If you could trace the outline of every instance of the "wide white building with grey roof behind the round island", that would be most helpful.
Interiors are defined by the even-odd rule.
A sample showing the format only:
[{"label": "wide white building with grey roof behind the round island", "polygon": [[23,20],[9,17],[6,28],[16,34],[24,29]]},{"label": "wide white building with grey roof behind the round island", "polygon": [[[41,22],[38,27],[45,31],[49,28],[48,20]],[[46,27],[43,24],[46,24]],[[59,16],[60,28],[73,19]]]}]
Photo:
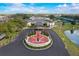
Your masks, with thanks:
[{"label": "wide white building with grey roof behind the round island", "polygon": [[36,26],[44,26],[45,23],[47,23],[47,26],[52,28],[54,27],[55,23],[47,17],[38,17],[38,16],[32,16],[30,19],[27,21],[27,25],[31,26],[31,24],[35,24]]}]

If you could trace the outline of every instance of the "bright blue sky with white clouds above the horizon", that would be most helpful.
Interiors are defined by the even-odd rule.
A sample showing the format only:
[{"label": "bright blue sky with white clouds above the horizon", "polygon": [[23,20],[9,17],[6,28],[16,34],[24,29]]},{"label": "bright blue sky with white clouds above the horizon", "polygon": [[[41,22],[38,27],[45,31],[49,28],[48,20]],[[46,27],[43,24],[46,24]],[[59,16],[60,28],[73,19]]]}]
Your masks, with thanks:
[{"label": "bright blue sky with white clouds above the horizon", "polygon": [[79,14],[78,3],[0,3],[0,14]]}]

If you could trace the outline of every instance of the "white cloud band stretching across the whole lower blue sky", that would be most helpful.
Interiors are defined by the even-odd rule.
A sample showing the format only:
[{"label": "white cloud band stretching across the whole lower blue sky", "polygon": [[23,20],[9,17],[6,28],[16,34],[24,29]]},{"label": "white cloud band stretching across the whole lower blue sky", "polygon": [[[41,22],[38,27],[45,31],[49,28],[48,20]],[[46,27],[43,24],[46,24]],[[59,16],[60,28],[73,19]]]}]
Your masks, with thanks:
[{"label": "white cloud band stretching across the whole lower blue sky", "polygon": [[6,6],[4,10],[0,10],[0,13],[79,13],[79,4],[59,4],[57,6],[51,6],[51,8],[44,5],[35,6],[34,3],[22,4],[14,3],[10,6]]}]

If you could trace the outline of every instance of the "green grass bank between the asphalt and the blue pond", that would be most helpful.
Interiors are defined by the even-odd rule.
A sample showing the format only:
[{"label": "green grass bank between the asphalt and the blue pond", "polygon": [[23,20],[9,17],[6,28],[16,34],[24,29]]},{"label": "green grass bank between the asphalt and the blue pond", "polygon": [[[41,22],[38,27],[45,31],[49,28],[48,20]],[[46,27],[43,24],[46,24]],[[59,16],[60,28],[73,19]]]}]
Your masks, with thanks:
[{"label": "green grass bank between the asphalt and the blue pond", "polygon": [[[75,45],[64,35],[64,31],[70,29],[72,29],[71,24],[57,25],[55,28],[53,28],[53,30],[59,35],[59,37],[64,42],[65,48],[68,50],[69,54],[79,56],[79,46]],[[79,29],[79,25],[74,25],[74,29]]]}]

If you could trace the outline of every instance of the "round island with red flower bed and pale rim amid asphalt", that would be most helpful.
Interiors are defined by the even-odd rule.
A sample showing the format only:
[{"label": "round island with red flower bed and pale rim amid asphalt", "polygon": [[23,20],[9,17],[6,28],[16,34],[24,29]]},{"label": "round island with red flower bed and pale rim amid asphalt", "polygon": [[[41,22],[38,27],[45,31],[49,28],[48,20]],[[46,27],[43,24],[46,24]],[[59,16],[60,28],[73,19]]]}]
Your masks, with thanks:
[{"label": "round island with red flower bed and pale rim amid asphalt", "polygon": [[35,31],[28,35],[24,40],[24,45],[32,50],[44,50],[51,46],[52,39],[49,34],[42,31]]}]

